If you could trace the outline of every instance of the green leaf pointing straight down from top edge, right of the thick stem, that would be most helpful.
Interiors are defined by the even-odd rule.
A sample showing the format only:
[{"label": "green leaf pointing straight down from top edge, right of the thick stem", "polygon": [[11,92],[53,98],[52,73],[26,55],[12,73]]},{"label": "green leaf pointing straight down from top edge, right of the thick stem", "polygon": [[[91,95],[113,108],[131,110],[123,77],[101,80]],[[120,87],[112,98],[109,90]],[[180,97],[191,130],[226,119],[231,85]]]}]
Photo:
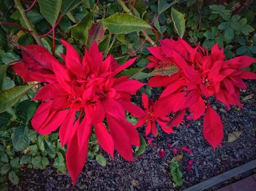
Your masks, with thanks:
[{"label": "green leaf pointing straight down from top edge, right of the thick stem", "polygon": [[61,0],[38,0],[40,12],[54,26],[61,10]]}]

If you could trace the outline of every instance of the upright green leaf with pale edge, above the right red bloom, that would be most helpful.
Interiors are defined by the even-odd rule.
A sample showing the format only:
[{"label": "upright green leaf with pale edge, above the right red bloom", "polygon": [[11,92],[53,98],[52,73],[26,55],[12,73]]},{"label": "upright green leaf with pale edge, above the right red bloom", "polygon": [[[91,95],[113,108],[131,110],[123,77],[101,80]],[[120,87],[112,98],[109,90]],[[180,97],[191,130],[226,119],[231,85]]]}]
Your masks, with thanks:
[{"label": "upright green leaf with pale edge, above the right red bloom", "polygon": [[171,17],[178,36],[182,39],[185,33],[185,15],[172,7]]}]

